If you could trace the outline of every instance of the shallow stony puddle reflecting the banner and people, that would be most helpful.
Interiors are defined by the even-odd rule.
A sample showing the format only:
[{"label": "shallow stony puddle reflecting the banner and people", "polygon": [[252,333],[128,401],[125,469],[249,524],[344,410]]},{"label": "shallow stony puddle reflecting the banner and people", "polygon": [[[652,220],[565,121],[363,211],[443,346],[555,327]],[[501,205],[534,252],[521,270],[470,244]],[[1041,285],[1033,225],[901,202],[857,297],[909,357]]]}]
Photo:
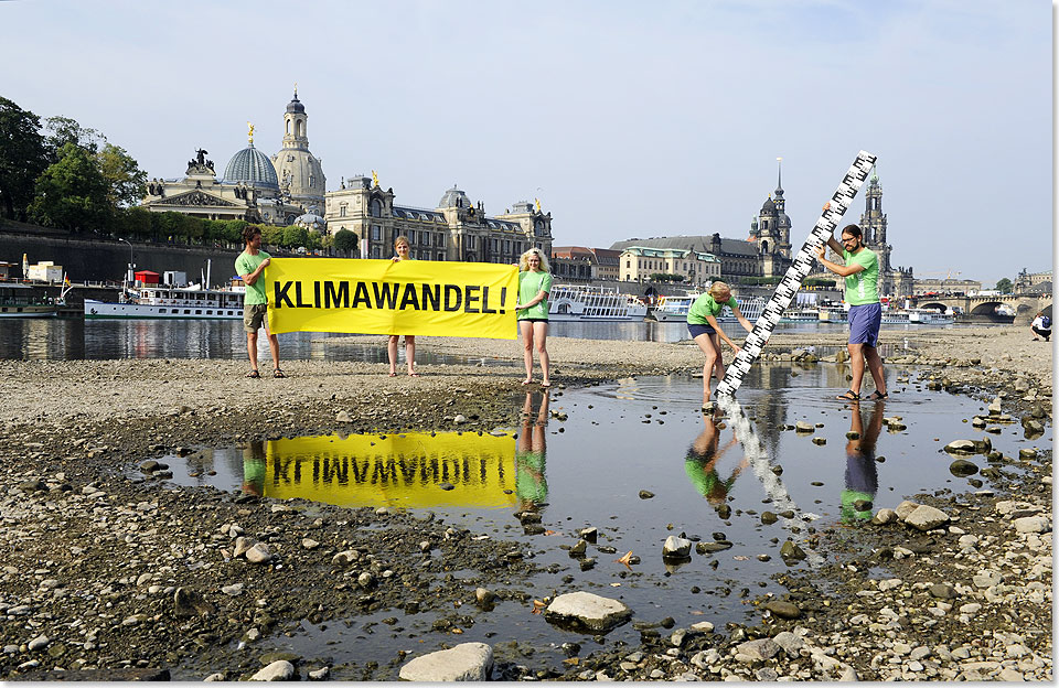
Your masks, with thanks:
[{"label": "shallow stony puddle reflecting the banner and people", "polygon": [[[928,391],[914,372],[898,383],[909,372],[888,369],[885,402],[843,404],[834,397],[846,388],[846,372],[756,366],[738,407],[713,415],[700,411],[699,379],[630,378],[552,398],[526,394],[515,401],[522,421],[493,433],[280,439],[167,462],[183,485],[430,510],[474,536],[518,541],[546,570],[525,587],[536,599],[587,590],[622,600],[637,622],[672,617],[675,627],[687,627],[712,621],[723,631],[728,621],[760,613],[749,599],[782,592],[770,576],[789,566],[780,557],[785,540],[809,553],[790,566],[811,567],[822,556],[812,547],[814,533],[854,526],[916,493],[974,490],[949,472],[954,456],[943,451],[948,442],[990,438],[1005,456],[1035,445],[1017,423],[994,423],[999,431],[988,433],[972,428],[970,419],[986,413],[984,404]],[[806,431],[793,429],[799,422]],[[1045,447],[1044,438],[1036,445]],[[981,454],[964,459],[978,469],[990,465]],[[1010,462],[997,465],[1017,470]],[[598,530],[596,541],[571,556],[589,527]],[[666,537],[681,534],[709,551],[693,548],[687,559],[663,560]],[[639,562],[619,561],[627,552]],[[489,588],[488,574],[461,571],[459,580],[469,600],[475,587]],[[355,680],[370,660],[382,667],[372,677],[396,678],[397,669],[386,665],[398,649],[426,653],[481,641],[494,645],[498,660],[558,667],[563,643],[580,643],[584,655],[597,641],[639,639],[632,624],[597,641],[561,631],[531,614],[528,603],[463,609],[474,623],[460,635],[435,628],[430,614],[393,610],[327,628],[303,624],[292,637],[267,643],[307,658],[324,656],[325,646],[333,677]],[[511,641],[535,648],[533,657]]]}]

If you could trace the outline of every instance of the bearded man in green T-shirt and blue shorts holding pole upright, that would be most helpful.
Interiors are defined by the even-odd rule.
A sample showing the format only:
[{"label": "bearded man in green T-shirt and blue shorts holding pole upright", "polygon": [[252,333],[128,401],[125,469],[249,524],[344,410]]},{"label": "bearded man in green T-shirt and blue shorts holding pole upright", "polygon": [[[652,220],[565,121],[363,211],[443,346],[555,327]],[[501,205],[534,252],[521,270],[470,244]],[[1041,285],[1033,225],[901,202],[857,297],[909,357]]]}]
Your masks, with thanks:
[{"label": "bearded man in green T-shirt and blue shorts holding pole upright", "polygon": [[[824,204],[824,212],[831,202]],[[826,247],[841,255],[845,265],[832,262],[824,257]],[[864,380],[864,365],[867,363],[875,380],[875,391],[868,399],[885,399],[886,376],[882,374],[882,358],[879,356],[879,326],[882,323],[882,304],[879,303],[879,258],[864,246],[864,233],[856,225],[842,228],[842,244],[835,237],[827,239],[826,246],[816,251],[825,268],[846,279],[846,302],[849,303],[849,364],[853,367],[853,380],[849,389],[838,395],[843,401],[860,400],[860,383]]]}]

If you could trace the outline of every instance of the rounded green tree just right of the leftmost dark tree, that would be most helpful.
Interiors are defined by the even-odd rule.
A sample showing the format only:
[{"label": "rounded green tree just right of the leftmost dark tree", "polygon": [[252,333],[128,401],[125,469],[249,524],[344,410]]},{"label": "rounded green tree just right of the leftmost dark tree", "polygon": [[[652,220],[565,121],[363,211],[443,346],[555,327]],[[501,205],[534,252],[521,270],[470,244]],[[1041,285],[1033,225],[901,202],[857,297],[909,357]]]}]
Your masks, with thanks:
[{"label": "rounded green tree just right of the leftmost dark tree", "polygon": [[106,228],[113,206],[107,197],[107,181],[95,158],[74,143],[64,143],[58,157],[58,162],[49,165],[38,179],[30,214],[42,225],[57,229]]}]

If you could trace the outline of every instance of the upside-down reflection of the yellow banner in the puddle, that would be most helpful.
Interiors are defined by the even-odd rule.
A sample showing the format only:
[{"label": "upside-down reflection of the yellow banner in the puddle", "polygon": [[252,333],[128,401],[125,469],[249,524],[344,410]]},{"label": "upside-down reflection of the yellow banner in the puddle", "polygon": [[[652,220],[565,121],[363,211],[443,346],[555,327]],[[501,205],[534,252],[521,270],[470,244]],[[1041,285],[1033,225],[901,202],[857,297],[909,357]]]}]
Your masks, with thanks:
[{"label": "upside-down reflection of the yellow banner in the puddle", "polygon": [[243,491],[336,506],[506,508],[515,504],[514,456],[513,437],[471,432],[252,442]]}]

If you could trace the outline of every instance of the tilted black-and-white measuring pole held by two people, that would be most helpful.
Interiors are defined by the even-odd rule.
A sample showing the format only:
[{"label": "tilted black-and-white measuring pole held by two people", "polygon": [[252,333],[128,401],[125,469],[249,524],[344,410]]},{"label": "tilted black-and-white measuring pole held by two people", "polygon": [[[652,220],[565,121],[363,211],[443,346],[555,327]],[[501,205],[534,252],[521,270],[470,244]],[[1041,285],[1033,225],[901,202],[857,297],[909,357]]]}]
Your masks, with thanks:
[{"label": "tilted black-and-white measuring pole held by two people", "polygon": [[780,280],[772,298],[764,304],[764,311],[758,316],[758,321],[753,323],[753,330],[747,335],[742,351],[739,352],[736,359],[728,366],[728,372],[725,373],[725,379],[720,380],[720,384],[717,385],[718,398],[730,397],[739,389],[739,385],[742,384],[742,378],[761,353],[761,347],[764,346],[764,343],[772,336],[772,331],[775,329],[777,323],[780,322],[783,311],[787,310],[787,307],[794,300],[794,294],[798,293],[799,287],[802,286],[802,280],[805,279],[805,276],[809,275],[813,265],[816,262],[816,249],[820,248],[822,244],[826,244],[827,239],[834,235],[835,227],[838,226],[838,221],[845,215],[846,208],[849,207],[853,197],[857,195],[857,191],[868,176],[868,172],[874,164],[875,155],[860,151],[857,159],[854,160],[849,166],[849,171],[842,178],[842,183],[838,184],[838,189],[834,195],[831,196],[831,207],[816,221],[816,226],[813,227],[809,238],[805,239],[802,250],[798,251],[794,261],[791,264],[791,267],[788,268],[783,279]]}]

